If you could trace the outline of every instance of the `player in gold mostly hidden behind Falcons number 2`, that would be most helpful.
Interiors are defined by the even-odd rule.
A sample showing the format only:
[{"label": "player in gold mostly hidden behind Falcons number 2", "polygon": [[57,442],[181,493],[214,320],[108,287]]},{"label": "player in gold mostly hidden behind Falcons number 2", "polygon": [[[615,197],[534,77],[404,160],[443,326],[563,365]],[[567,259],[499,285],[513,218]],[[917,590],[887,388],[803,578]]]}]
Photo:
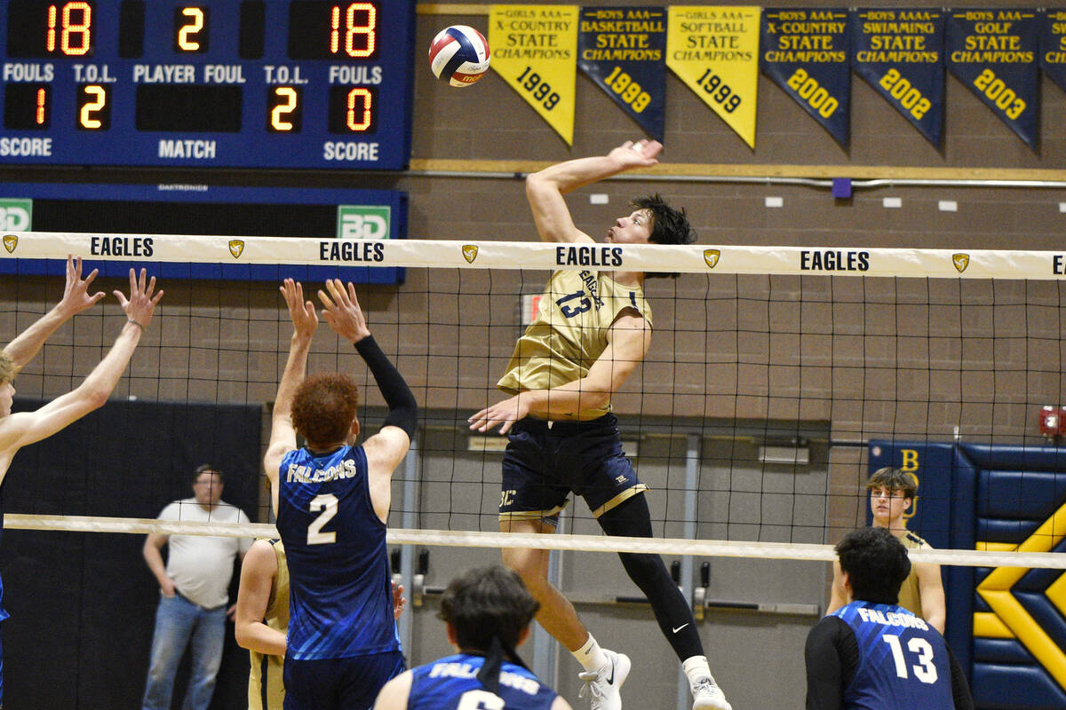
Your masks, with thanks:
[{"label": "player in gold mostly hidden behind Falcons number 2", "polygon": [[[400,618],[406,601],[403,584],[394,584],[393,618]],[[233,629],[237,643],[248,649],[248,710],[281,710],[289,632],[289,564],[280,540],[257,540],[244,556]]]}]

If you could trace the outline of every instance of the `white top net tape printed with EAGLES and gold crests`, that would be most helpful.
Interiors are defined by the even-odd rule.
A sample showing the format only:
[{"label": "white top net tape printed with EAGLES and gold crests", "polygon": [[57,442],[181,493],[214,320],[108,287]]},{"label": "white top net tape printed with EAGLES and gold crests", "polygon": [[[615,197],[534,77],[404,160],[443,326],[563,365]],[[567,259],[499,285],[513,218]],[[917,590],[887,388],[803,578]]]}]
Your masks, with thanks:
[{"label": "white top net tape printed with EAGLES and gold crests", "polygon": [[[876,276],[939,279],[1066,279],[1066,249],[858,249],[704,245],[545,244],[439,240],[335,240],[7,232],[0,263],[14,259],[316,266],[600,269],[764,276]],[[143,248],[150,243],[146,254]],[[239,243],[240,248],[235,248]],[[104,246],[107,248],[104,248]],[[339,278],[344,278],[343,271]]]}]

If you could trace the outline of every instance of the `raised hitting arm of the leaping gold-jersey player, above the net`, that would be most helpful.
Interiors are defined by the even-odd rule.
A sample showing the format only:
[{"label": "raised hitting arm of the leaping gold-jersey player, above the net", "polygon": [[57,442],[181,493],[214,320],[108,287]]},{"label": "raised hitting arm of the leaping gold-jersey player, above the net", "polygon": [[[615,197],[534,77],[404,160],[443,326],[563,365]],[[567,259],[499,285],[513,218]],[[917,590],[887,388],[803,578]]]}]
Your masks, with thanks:
[{"label": "raised hitting arm of the leaping gold-jersey player, above the net", "polygon": [[650,167],[662,151],[658,141],[627,141],[607,155],[578,158],[556,163],[526,179],[526,198],[533,211],[533,221],[545,242],[592,242],[574,225],[563,196],[571,191],[625,172]]}]

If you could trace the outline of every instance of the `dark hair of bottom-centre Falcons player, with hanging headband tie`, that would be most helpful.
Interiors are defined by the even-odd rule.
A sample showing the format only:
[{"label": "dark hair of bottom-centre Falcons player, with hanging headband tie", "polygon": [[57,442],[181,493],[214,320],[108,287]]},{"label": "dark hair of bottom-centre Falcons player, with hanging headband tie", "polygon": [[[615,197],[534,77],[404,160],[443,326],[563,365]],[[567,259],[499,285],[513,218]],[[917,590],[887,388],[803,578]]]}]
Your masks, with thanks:
[{"label": "dark hair of bottom-centre Falcons player, with hanging headband tie", "polygon": [[440,598],[438,616],[455,628],[459,648],[485,655],[478,680],[495,693],[504,655],[524,667],[515,646],[539,608],[518,575],[492,564],[454,578]]}]

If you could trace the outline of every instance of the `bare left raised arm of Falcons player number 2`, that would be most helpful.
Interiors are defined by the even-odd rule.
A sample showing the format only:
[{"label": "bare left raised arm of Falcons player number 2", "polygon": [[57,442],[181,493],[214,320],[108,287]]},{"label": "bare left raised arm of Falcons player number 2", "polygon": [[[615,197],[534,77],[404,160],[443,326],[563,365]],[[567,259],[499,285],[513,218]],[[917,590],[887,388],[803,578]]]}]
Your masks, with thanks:
[{"label": "bare left raised arm of Falcons player number 2", "polygon": [[311,339],[319,326],[314,303],[304,300],[304,286],[292,279],[286,279],[279,291],[289,307],[292,319],[292,340],[289,343],[289,359],[285,373],[277,385],[274,411],[271,414],[270,444],[263,456],[263,467],[271,483],[271,498],[277,512],[278,466],[285,455],[296,448],[296,430],[292,426],[292,397],[307,374],[307,353],[311,349]]}]

